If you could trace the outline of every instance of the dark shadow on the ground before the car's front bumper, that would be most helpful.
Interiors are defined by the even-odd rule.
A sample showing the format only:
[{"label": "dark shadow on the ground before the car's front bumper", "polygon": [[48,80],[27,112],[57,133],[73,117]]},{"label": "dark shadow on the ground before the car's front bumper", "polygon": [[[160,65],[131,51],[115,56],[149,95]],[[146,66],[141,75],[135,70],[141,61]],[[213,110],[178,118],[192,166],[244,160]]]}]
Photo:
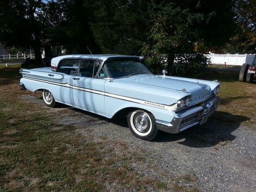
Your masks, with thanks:
[{"label": "dark shadow on the ground before the car's front bumper", "polygon": [[226,143],[234,140],[236,136],[232,132],[237,130],[241,122],[249,118],[240,115],[232,115],[225,112],[215,112],[203,125],[196,125],[178,134],[159,132],[154,142],[173,142],[190,147],[202,148],[215,146],[218,143]]}]

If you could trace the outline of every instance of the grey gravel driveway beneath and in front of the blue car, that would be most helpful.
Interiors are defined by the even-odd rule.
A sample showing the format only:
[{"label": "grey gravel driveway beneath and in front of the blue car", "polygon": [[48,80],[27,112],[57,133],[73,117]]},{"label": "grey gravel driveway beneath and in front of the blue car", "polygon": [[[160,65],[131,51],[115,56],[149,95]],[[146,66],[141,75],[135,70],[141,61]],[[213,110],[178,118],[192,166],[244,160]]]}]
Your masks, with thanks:
[{"label": "grey gravel driveway beneath and in front of the blue car", "polygon": [[[41,99],[29,98],[44,106]],[[133,151],[145,158],[134,162],[133,168],[151,178],[162,180],[167,186],[173,183],[182,188],[177,191],[256,191],[256,134],[241,122],[234,122],[229,114],[225,123],[220,123],[212,115],[204,125],[191,127],[179,134],[159,132],[155,140],[148,142],[135,138],[125,119],[106,119],[78,109],[50,109],[59,112],[57,123],[63,125],[84,125],[77,129],[79,135],[91,135],[93,141],[102,138],[109,146],[112,141],[126,144],[127,150],[118,155]],[[221,112],[216,112],[221,116]],[[70,116],[72,114],[72,117]],[[106,185],[110,191],[130,191],[115,183]]]}]

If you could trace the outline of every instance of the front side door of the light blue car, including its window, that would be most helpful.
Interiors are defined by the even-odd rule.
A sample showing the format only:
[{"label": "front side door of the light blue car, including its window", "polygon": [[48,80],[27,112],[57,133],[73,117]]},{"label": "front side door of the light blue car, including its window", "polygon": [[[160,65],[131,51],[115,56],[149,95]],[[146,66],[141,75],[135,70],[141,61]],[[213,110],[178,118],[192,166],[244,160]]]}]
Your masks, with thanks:
[{"label": "front side door of the light blue car, including its window", "polygon": [[79,75],[72,80],[73,99],[75,106],[103,115],[105,79],[95,78],[98,68],[98,61],[80,61]]}]

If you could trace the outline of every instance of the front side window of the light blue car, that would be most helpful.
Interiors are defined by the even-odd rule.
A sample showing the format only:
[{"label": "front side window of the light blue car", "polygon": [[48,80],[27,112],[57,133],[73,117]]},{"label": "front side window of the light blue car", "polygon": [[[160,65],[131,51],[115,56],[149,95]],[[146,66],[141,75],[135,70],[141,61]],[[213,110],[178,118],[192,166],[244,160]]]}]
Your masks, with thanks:
[{"label": "front side window of the light blue car", "polygon": [[93,60],[82,60],[79,76],[81,77],[95,77],[99,69],[99,64],[97,61]]}]

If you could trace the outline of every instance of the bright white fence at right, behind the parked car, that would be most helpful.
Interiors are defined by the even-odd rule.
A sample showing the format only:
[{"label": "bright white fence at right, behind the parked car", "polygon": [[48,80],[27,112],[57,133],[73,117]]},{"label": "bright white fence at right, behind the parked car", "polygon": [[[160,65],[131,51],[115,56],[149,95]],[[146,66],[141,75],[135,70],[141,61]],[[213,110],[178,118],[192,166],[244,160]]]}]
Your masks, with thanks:
[{"label": "bright white fence at right, behind the parked car", "polygon": [[[207,54],[212,64],[242,66],[243,63],[252,64],[255,58],[255,54]],[[256,60],[255,60],[256,61]],[[254,62],[255,62],[254,61]]]}]

